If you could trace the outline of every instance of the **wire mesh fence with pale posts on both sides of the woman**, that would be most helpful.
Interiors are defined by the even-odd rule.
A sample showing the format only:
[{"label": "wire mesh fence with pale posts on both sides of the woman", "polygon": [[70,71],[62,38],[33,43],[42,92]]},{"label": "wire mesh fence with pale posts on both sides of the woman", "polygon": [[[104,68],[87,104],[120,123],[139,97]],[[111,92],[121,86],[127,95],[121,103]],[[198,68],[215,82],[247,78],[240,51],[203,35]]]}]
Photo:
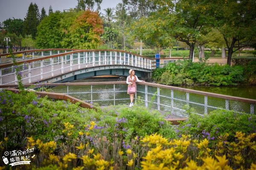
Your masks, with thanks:
[{"label": "wire mesh fence with pale posts on both sides of the woman", "polygon": [[[99,106],[128,105],[130,103],[126,84],[94,83],[91,82],[90,85],[48,85],[47,88],[52,92],[64,93],[84,102],[97,103]],[[153,83],[144,84],[137,84],[134,102],[172,115],[186,116],[189,108],[192,108],[192,112],[200,115],[208,114],[216,109],[232,110],[239,113],[255,113],[253,103],[222,99],[196,94],[195,92],[189,93],[171,88],[155,87],[156,84]]]}]

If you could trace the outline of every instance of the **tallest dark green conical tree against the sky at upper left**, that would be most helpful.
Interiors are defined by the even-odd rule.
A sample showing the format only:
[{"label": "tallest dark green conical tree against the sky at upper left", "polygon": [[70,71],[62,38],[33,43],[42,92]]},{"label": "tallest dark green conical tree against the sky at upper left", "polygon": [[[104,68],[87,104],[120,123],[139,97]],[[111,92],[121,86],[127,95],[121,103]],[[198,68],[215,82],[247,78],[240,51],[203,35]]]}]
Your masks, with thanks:
[{"label": "tallest dark green conical tree against the sky at upper left", "polygon": [[23,25],[23,34],[29,35],[31,34],[33,38],[35,38],[38,26],[38,19],[36,16],[35,6],[33,3],[30,3],[29,9],[26,13],[26,17],[24,18]]}]

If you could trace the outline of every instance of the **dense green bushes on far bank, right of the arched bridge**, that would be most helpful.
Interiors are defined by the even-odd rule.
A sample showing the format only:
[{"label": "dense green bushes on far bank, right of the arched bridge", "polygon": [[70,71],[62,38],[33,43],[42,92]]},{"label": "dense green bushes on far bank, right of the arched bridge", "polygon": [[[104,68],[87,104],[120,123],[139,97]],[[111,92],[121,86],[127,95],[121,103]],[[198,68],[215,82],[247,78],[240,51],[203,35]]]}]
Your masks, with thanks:
[{"label": "dense green bushes on far bank, right of the arched bridge", "polygon": [[[248,68],[241,65],[209,65],[205,60],[192,62],[184,59],[169,62],[163,68],[154,70],[152,77],[164,85],[236,85],[246,80],[245,77],[249,71],[245,72],[244,70],[248,70]],[[255,74],[254,70],[250,71],[250,74]]]}]

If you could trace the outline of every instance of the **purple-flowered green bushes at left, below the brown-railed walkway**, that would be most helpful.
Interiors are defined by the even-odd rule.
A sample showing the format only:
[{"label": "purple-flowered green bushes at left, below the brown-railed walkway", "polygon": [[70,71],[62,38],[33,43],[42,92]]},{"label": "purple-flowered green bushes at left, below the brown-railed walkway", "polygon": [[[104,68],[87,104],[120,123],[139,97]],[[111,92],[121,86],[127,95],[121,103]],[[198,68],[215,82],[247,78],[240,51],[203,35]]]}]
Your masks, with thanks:
[{"label": "purple-flowered green bushes at left, below the brown-railed walkway", "polygon": [[[106,111],[98,108],[95,111],[81,108],[79,103],[41,98],[34,92],[25,91],[22,94],[2,91],[0,102],[0,128],[4,129],[0,140],[8,136],[8,147],[11,148],[23,147],[26,144],[26,136],[44,139],[45,142],[61,142],[65,138],[61,130],[65,122],[76,126],[71,136],[73,138],[76,138],[79,131],[83,131],[84,126],[91,121],[98,125],[91,133],[91,137],[102,134],[111,139],[113,134],[119,134],[122,139],[129,141],[135,136],[162,132],[166,136],[175,137],[171,126],[167,123],[160,124],[164,121],[160,113],[150,113],[139,106],[132,110],[120,107]],[[172,133],[166,134],[166,128]]]}]

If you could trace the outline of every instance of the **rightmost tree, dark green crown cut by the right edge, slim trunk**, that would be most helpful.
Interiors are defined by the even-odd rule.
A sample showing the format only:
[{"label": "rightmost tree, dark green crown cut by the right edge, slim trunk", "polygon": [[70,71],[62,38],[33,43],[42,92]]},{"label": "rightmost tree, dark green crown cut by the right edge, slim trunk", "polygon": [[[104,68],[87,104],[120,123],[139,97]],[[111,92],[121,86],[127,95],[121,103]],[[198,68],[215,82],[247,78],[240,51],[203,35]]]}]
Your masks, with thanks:
[{"label": "rightmost tree, dark green crown cut by the right edge, slim trunk", "polygon": [[228,55],[227,64],[231,65],[233,52],[256,46],[256,1],[222,0],[219,7],[219,30],[224,37]]}]

